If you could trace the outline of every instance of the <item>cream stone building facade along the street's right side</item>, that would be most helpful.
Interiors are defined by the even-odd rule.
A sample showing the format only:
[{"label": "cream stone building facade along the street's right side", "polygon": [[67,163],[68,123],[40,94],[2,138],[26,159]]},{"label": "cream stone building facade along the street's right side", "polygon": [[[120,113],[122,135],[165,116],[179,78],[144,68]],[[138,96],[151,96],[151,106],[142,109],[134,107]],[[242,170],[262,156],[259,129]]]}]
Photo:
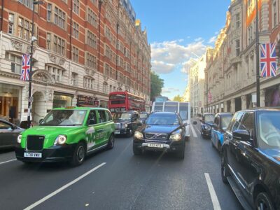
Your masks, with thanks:
[{"label": "cream stone building facade along the street's right side", "polygon": [[[277,57],[280,56],[279,6],[279,0],[259,1],[260,43],[276,43]],[[215,48],[207,50],[204,111],[233,113],[255,106],[255,52],[255,1],[232,0]],[[260,106],[280,106],[279,83],[279,71],[276,77],[260,78]]]}]

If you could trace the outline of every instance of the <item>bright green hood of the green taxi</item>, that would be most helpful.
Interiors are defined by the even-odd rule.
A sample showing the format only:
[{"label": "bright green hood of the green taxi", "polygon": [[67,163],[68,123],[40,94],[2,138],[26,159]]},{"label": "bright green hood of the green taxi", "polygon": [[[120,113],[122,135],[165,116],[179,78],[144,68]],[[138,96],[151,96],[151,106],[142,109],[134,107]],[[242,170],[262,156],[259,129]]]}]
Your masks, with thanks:
[{"label": "bright green hood of the green taxi", "polygon": [[56,138],[58,135],[75,134],[80,130],[81,126],[35,126],[31,127],[22,133],[22,137],[27,135],[43,135],[45,139]]}]

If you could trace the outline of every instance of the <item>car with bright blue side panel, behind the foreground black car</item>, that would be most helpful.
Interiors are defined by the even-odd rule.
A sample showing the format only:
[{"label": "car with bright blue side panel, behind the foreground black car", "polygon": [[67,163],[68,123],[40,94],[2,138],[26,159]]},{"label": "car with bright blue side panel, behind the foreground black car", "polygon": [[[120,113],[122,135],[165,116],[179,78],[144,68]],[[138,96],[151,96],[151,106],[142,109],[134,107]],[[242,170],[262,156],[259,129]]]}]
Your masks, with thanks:
[{"label": "car with bright blue side panel, behind the foreground black car", "polygon": [[214,125],[211,129],[211,144],[220,153],[223,145],[223,135],[230,124],[230,120],[232,120],[232,113],[216,113]]}]

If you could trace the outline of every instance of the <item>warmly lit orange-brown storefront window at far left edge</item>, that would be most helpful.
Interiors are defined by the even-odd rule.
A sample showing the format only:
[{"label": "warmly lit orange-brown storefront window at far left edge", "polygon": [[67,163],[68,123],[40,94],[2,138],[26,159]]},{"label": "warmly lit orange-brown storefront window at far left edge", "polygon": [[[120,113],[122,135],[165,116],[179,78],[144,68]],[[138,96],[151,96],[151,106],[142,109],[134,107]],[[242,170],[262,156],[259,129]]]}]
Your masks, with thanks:
[{"label": "warmly lit orange-brown storefront window at far left edge", "polygon": [[0,118],[18,123],[22,87],[0,83]]}]

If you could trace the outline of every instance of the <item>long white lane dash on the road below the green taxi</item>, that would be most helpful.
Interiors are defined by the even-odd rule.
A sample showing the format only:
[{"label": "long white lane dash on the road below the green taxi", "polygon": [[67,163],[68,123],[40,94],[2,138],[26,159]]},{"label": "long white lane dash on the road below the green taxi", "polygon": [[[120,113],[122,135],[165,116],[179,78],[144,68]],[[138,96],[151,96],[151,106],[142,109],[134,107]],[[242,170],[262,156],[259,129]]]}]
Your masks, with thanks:
[{"label": "long white lane dash on the road below the green taxi", "polygon": [[24,210],[33,209],[34,207],[38,206],[38,204],[41,204],[41,203],[45,202],[46,200],[50,199],[50,197],[53,197],[53,196],[57,195],[57,193],[60,193],[62,190],[65,190],[66,188],[68,188],[69,186],[73,185],[77,181],[80,181],[80,179],[83,179],[85,176],[91,174],[92,172],[94,172],[95,170],[97,170],[100,167],[104,166],[105,164],[106,164],[106,162],[103,162],[102,164],[98,165],[97,167],[94,167],[90,171],[88,171],[85,174],[79,176],[77,179],[74,179],[73,181],[67,183],[65,186],[62,186],[61,188],[55,190],[55,192],[50,193],[49,195],[43,197],[41,200],[38,200],[36,203],[31,204],[29,207],[26,207]]}]

